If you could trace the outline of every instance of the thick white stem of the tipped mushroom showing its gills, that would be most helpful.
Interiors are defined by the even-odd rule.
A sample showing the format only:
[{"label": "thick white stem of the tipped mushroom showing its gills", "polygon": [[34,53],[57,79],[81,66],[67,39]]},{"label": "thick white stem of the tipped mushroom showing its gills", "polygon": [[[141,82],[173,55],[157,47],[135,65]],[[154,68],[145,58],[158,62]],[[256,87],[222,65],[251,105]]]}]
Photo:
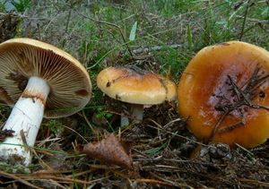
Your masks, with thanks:
[{"label": "thick white stem of the tipped mushroom showing its gills", "polygon": [[7,137],[0,143],[0,157],[20,161],[28,166],[31,162],[30,150],[39,133],[44,115],[44,107],[49,93],[46,81],[39,77],[30,77],[22,96],[13,107],[4,129],[13,130],[13,137]]}]

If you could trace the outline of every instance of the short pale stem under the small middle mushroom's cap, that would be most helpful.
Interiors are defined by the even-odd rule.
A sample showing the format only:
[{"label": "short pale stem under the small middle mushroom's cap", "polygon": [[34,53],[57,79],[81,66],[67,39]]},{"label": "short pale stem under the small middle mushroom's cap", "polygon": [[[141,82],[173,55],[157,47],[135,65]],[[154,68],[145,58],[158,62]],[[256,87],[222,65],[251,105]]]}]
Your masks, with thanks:
[{"label": "short pale stem under the small middle mushroom's cap", "polygon": [[120,125],[126,126],[129,125],[129,119],[133,120],[132,124],[138,124],[143,120],[143,105],[140,104],[131,104],[129,117],[124,114],[121,115]]}]

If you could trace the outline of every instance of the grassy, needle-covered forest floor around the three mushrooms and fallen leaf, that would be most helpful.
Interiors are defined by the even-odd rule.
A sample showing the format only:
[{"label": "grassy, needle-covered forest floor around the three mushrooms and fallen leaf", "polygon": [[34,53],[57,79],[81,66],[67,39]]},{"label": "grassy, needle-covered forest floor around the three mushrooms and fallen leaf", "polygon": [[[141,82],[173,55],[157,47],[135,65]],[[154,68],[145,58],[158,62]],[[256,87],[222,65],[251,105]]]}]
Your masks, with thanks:
[{"label": "grassy, needle-covered forest floor around the three mushrooms and fallen leaf", "polygon": [[[126,64],[178,84],[195,53],[225,41],[269,50],[268,1],[8,2],[0,3],[0,42],[23,37],[64,49],[89,72],[92,97],[74,116],[43,120],[29,168],[0,161],[0,188],[269,188],[268,141],[253,149],[202,144],[176,103],[145,108],[142,123],[121,128],[120,104],[96,86],[102,69]],[[1,124],[10,111],[0,107]],[[108,133],[128,144],[131,169],[79,153]]]}]

